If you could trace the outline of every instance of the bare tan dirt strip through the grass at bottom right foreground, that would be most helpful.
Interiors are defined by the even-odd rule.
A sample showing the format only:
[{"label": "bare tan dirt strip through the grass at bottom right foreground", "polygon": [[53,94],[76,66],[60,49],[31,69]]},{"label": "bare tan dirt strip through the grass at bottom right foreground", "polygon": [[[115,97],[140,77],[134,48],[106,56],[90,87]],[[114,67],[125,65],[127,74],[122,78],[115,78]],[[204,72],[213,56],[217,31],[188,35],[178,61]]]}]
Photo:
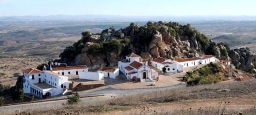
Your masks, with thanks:
[{"label": "bare tan dirt strip through the grass at bottom right foreground", "polygon": [[[222,102],[222,104],[220,104]],[[250,109],[256,106],[256,98],[255,97],[232,97],[232,98],[218,98],[218,99],[204,99],[204,100],[185,100],[185,101],[178,101],[178,102],[171,102],[171,103],[164,103],[164,104],[156,104],[150,105],[149,112],[172,112],[173,110],[197,110],[199,108],[223,108],[224,102],[230,102],[226,105],[226,109]],[[125,111],[113,111],[113,112],[106,112],[103,114],[113,114],[113,115],[129,115],[141,112],[139,108],[137,110],[125,110]]]}]

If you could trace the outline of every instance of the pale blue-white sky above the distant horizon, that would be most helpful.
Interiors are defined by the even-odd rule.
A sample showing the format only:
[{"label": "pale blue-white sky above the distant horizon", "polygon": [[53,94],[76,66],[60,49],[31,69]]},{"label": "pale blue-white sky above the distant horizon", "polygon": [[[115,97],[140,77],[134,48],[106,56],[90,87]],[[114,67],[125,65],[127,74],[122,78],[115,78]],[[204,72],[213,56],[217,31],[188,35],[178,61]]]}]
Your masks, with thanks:
[{"label": "pale blue-white sky above the distant horizon", "polygon": [[255,0],[0,0],[1,16],[256,15]]}]

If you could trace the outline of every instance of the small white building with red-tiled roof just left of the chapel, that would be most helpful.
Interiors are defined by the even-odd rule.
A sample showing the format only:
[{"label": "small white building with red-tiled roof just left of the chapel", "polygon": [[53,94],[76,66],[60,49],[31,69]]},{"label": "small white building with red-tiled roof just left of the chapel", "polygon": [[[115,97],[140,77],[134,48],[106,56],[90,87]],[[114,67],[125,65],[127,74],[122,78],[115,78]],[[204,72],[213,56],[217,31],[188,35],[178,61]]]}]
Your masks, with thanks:
[{"label": "small white building with red-tiled roof just left of the chapel", "polygon": [[102,73],[104,77],[116,78],[119,76],[119,69],[102,67],[98,69],[98,73]]}]

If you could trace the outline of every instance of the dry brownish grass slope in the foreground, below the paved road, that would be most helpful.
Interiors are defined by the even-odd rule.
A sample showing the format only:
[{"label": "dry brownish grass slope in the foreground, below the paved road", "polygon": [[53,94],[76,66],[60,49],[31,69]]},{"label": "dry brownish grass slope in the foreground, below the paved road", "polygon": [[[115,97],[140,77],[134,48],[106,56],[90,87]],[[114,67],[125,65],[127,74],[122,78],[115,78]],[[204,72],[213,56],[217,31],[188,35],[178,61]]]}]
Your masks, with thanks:
[{"label": "dry brownish grass slope in the foreground, below the paved road", "polygon": [[199,85],[188,88],[165,90],[137,94],[134,96],[113,97],[107,101],[94,103],[80,103],[77,105],[63,105],[53,108],[26,110],[21,114],[105,114],[107,112],[130,110],[133,114],[254,114],[255,108],[227,109],[229,102],[220,103],[218,106],[193,109],[162,110],[156,112],[148,106],[159,106],[161,104],[172,104],[183,100],[210,100],[211,98],[224,97],[254,97],[256,91],[256,80],[247,82],[227,82],[214,85]]}]

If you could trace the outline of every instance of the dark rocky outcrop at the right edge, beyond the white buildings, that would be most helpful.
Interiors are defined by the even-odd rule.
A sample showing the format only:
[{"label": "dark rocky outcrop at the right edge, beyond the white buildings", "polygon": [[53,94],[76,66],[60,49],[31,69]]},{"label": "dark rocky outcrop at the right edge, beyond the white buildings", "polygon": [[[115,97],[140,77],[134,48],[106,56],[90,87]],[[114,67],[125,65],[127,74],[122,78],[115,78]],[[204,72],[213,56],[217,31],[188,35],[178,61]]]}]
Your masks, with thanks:
[{"label": "dark rocky outcrop at the right edge, beyond the white buildings", "polygon": [[255,54],[246,48],[232,49],[228,53],[231,58],[232,64],[236,69],[245,70],[246,72],[255,73]]}]

